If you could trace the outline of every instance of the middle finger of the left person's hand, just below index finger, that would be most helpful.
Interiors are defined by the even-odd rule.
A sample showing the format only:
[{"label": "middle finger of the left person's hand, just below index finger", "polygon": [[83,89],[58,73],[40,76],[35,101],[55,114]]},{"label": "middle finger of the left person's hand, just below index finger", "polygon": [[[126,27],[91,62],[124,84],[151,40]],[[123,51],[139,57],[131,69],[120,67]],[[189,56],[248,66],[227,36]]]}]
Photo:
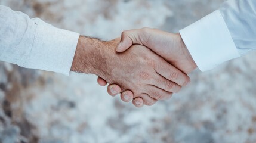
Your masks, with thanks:
[{"label": "middle finger of the left person's hand, just below index finger", "polygon": [[151,85],[156,86],[160,89],[163,89],[167,92],[179,92],[181,89],[181,86],[177,83],[171,82],[168,79],[165,79],[165,77],[160,76],[159,74],[156,75],[156,77],[152,80]]}]

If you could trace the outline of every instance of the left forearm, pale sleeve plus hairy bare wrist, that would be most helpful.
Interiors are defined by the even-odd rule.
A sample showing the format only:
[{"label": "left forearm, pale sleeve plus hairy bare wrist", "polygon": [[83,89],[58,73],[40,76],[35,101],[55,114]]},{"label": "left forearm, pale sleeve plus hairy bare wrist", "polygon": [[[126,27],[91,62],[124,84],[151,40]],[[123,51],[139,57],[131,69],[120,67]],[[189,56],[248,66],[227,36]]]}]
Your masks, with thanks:
[{"label": "left forearm, pale sleeve plus hairy bare wrist", "polygon": [[106,74],[106,56],[113,55],[118,42],[79,36],[1,5],[0,12],[1,61],[66,75],[70,69]]}]

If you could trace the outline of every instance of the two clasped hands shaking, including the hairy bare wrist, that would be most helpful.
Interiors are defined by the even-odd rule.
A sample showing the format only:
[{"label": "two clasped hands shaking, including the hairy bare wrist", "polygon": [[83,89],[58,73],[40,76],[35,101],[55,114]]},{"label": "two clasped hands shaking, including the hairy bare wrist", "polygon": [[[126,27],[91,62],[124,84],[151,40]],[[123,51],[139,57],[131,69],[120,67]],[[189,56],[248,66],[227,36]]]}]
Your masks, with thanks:
[{"label": "two clasped hands shaking, including the hairy bare wrist", "polygon": [[71,70],[96,74],[110,95],[142,107],[171,98],[196,67],[179,33],[143,28],[109,42],[80,36]]}]

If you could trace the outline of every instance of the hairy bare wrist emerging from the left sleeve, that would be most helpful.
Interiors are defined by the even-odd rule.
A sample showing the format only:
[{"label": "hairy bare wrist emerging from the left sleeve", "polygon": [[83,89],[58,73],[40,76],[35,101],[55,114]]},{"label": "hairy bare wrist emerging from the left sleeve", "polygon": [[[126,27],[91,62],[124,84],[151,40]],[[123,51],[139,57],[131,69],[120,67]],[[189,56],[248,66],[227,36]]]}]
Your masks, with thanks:
[{"label": "hairy bare wrist emerging from the left sleeve", "polygon": [[96,38],[80,36],[76,47],[75,57],[73,59],[72,71],[78,73],[91,73],[100,77],[110,74],[111,62],[118,40],[100,41]]}]

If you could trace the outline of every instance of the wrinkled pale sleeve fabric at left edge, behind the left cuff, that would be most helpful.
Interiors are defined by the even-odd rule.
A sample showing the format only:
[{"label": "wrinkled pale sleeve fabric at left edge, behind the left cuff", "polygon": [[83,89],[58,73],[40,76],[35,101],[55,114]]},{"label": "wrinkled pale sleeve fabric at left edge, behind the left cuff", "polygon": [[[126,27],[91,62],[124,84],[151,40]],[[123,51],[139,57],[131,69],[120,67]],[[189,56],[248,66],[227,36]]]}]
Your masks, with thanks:
[{"label": "wrinkled pale sleeve fabric at left edge, behind the left cuff", "polygon": [[0,60],[23,65],[29,58],[36,24],[23,13],[0,5]]}]

